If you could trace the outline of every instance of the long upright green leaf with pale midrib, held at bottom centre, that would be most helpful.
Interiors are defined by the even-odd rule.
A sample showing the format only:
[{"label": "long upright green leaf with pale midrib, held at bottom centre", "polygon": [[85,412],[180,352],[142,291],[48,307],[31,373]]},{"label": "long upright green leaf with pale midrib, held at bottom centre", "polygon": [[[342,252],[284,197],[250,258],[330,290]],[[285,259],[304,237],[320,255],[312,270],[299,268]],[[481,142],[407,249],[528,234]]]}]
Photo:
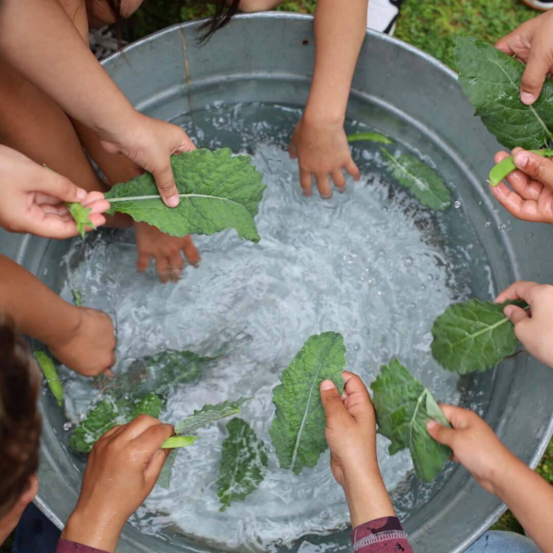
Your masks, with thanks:
[{"label": "long upright green leaf with pale midrib, held at bottom centre", "polygon": [[269,430],[280,466],[299,474],[314,467],[326,451],[325,410],[319,385],[331,379],[343,388],[346,347],[341,334],[323,332],[308,338],[273,389],[276,413]]}]

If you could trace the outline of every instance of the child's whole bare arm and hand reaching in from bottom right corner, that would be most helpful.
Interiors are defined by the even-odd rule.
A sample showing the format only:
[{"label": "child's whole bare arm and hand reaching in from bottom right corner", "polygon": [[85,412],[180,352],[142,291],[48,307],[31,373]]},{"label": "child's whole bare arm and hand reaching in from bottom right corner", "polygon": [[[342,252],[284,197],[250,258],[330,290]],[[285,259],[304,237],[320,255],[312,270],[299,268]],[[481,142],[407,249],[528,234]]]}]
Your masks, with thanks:
[{"label": "child's whole bare arm and hand reaching in from bottom right corner", "polygon": [[453,428],[430,421],[429,434],[451,447],[452,460],[507,504],[536,545],[551,553],[553,487],[515,457],[476,413],[453,405],[440,408]]}]

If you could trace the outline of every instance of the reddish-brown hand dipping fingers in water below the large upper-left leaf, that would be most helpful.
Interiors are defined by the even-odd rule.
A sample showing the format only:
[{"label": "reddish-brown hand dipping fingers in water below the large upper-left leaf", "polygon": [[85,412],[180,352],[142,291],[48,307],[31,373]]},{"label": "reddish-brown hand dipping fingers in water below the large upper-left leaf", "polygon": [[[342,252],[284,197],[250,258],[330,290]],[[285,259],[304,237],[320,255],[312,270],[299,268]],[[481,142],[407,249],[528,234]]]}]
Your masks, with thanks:
[{"label": "reddish-brown hand dipping fingers in water below the large upper-left leaf", "polygon": [[169,280],[178,282],[185,265],[181,253],[184,253],[190,265],[200,263],[200,254],[190,234],[182,238],[170,236],[147,223],[135,222],[133,227],[138,248],[137,270],[140,273],[148,269],[150,258],[153,257],[159,280],[163,283]]}]

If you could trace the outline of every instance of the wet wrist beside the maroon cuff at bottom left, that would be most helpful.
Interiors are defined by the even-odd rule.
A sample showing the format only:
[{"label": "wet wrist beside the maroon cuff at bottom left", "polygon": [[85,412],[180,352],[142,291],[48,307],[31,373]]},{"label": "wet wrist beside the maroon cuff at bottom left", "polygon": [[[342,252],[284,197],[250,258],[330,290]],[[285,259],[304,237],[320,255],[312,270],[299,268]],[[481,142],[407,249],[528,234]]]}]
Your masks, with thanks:
[{"label": "wet wrist beside the maroon cuff at bottom left", "polygon": [[77,544],[95,547],[113,553],[116,550],[124,521],[115,517],[95,517],[94,514],[80,512],[78,508],[71,513],[61,537]]}]

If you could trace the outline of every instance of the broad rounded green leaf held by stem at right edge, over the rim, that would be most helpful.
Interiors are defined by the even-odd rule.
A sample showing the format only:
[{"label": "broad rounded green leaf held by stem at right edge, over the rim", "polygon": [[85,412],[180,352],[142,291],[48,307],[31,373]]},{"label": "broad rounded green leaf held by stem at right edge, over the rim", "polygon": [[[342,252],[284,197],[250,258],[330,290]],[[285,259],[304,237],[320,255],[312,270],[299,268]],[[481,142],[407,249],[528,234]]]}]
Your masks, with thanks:
[{"label": "broad rounded green leaf held by stem at right edge, over the rim", "polygon": [[432,356],[448,371],[467,374],[495,367],[512,354],[519,340],[503,314],[505,305],[528,309],[524,301],[468,300],[452,304],[432,325]]}]

